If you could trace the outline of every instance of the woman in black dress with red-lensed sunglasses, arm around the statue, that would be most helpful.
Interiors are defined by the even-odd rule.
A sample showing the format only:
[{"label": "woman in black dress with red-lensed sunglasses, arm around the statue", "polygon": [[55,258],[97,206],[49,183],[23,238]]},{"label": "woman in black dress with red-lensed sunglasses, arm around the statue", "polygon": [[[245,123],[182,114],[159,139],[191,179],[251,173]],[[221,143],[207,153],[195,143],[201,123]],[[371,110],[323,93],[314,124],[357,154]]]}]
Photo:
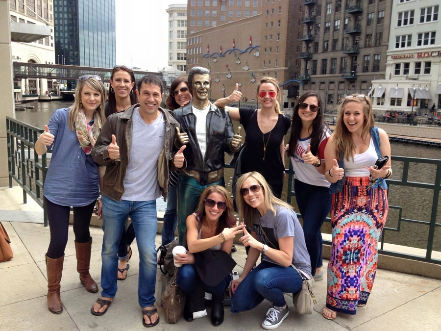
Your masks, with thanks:
[{"label": "woman in black dress with red-lensed sunglasses, arm around the statue", "polygon": [[[235,92],[238,84],[236,84]],[[239,95],[240,97],[240,95]],[[257,85],[260,109],[225,107],[228,98],[215,104],[225,107],[234,121],[245,128],[245,147],[241,156],[241,174],[257,171],[268,181],[274,195],[280,199],[285,177],[284,136],[291,119],[280,111],[281,92],[275,78],[263,77]]]}]

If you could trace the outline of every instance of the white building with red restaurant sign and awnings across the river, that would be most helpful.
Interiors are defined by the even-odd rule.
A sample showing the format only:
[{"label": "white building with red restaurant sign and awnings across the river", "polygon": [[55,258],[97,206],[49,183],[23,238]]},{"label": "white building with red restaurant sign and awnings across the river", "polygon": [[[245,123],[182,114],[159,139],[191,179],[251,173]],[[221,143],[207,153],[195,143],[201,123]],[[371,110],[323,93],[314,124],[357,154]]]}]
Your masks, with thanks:
[{"label": "white building with red restaurant sign and awnings across the river", "polygon": [[433,0],[393,0],[386,79],[372,81],[377,112],[441,109],[441,17]]}]

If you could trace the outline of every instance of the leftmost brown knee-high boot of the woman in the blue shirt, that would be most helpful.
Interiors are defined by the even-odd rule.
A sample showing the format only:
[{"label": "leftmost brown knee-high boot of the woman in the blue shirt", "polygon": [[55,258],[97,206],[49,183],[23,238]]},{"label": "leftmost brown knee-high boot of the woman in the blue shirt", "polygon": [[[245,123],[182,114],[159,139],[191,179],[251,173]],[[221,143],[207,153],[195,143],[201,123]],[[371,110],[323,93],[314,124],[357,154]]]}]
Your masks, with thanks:
[{"label": "leftmost brown knee-high boot of the woman in the blue shirt", "polygon": [[64,255],[60,258],[46,256],[46,272],[48,274],[48,308],[51,313],[59,314],[63,311],[60,298],[60,281],[63,271]]}]

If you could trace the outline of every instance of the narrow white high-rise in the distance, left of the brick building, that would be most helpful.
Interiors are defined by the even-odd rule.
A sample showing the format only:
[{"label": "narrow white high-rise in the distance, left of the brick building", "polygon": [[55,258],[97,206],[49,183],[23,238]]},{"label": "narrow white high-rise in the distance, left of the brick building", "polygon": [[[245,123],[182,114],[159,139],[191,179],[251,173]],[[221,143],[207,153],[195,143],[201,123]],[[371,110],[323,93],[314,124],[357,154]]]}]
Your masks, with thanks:
[{"label": "narrow white high-rise in the distance, left of the brick building", "polygon": [[169,14],[169,67],[187,70],[187,5],[171,4]]}]

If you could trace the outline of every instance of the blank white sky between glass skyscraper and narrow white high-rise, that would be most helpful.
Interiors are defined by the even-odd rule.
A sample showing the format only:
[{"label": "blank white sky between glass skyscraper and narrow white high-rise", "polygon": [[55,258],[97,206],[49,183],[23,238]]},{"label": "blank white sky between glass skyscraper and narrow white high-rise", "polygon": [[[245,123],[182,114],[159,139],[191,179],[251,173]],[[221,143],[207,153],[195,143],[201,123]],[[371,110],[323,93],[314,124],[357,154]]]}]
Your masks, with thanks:
[{"label": "blank white sky between glass skyscraper and narrow white high-rise", "polygon": [[158,71],[168,61],[168,15],[187,0],[116,0],[117,64]]}]

